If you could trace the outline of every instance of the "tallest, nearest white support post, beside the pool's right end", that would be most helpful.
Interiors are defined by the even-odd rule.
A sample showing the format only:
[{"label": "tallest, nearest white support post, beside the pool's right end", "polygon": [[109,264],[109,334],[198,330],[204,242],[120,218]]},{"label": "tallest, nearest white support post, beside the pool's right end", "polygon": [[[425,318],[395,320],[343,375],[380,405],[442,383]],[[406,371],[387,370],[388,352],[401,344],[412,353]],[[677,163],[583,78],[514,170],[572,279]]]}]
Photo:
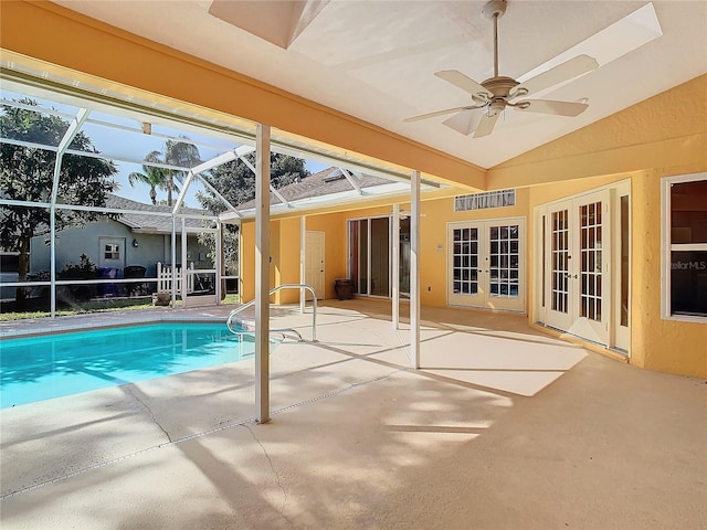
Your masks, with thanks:
[{"label": "tallest, nearest white support post, beside the pool's right end", "polygon": [[270,126],[255,132],[255,417],[270,422]]}]

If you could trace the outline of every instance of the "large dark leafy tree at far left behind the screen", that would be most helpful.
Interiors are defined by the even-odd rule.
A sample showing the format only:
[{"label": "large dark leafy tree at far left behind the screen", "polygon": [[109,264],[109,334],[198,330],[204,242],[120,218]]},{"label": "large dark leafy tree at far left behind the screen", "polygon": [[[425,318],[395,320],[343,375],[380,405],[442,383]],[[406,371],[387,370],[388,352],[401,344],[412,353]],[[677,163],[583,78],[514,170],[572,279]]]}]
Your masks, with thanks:
[{"label": "large dark leafy tree at far left behind the screen", "polygon": [[[19,103],[36,106],[32,99]],[[68,123],[57,116],[48,116],[27,108],[3,105],[0,115],[0,136],[31,144],[57,146]],[[91,139],[80,131],[70,149],[97,153]],[[49,202],[56,153],[46,149],[0,145],[0,197],[14,201]],[[112,179],[117,173],[115,163],[101,158],[64,155],[62,158],[59,197],[63,203],[105,206],[108,193],[118,189]],[[56,230],[81,226],[97,220],[92,211],[57,210]],[[46,208],[3,205],[0,210],[0,245],[19,252],[18,279],[27,282],[30,241],[50,232],[50,210]],[[22,306],[27,298],[23,288],[17,290]]]}]

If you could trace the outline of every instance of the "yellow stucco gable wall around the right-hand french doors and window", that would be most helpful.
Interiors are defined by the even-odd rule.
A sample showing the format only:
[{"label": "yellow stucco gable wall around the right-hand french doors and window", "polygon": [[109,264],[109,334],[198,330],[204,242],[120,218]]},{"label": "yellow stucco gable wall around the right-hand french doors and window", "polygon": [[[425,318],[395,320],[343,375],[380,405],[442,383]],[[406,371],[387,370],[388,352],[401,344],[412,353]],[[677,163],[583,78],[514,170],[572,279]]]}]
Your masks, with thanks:
[{"label": "yellow stucco gable wall around the right-hand french doors and window", "polygon": [[[707,76],[703,75],[494,168],[489,182],[520,173],[521,182],[555,181],[530,188],[532,210],[630,179],[631,363],[707,377],[707,322],[661,317],[661,178],[706,170]],[[532,248],[531,232],[529,237]]]}]

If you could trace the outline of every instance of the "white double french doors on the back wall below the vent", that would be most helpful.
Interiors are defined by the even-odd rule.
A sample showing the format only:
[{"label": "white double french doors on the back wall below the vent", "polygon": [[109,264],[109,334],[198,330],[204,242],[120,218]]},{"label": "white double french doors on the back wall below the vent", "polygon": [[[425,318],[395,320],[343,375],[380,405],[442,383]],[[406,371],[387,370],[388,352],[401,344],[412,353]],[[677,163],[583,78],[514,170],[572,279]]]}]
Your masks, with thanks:
[{"label": "white double french doors on the back wall below the vent", "polygon": [[523,219],[452,223],[447,248],[450,305],[525,310]]}]

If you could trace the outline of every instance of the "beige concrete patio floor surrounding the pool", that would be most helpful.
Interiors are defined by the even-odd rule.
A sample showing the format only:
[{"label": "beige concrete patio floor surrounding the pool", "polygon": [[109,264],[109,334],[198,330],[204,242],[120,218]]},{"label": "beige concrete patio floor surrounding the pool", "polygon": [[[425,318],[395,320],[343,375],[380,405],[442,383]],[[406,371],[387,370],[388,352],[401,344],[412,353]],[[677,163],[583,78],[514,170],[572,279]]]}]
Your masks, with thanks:
[{"label": "beige concrete patio floor surrounding the pool", "polygon": [[[707,528],[704,380],[635,369],[525,317],[431,308],[414,371],[389,311],[327,303],[318,342],[277,346],[268,424],[253,420],[253,361],[3,409],[1,527]],[[310,322],[286,310],[272,326],[308,339]]]}]

